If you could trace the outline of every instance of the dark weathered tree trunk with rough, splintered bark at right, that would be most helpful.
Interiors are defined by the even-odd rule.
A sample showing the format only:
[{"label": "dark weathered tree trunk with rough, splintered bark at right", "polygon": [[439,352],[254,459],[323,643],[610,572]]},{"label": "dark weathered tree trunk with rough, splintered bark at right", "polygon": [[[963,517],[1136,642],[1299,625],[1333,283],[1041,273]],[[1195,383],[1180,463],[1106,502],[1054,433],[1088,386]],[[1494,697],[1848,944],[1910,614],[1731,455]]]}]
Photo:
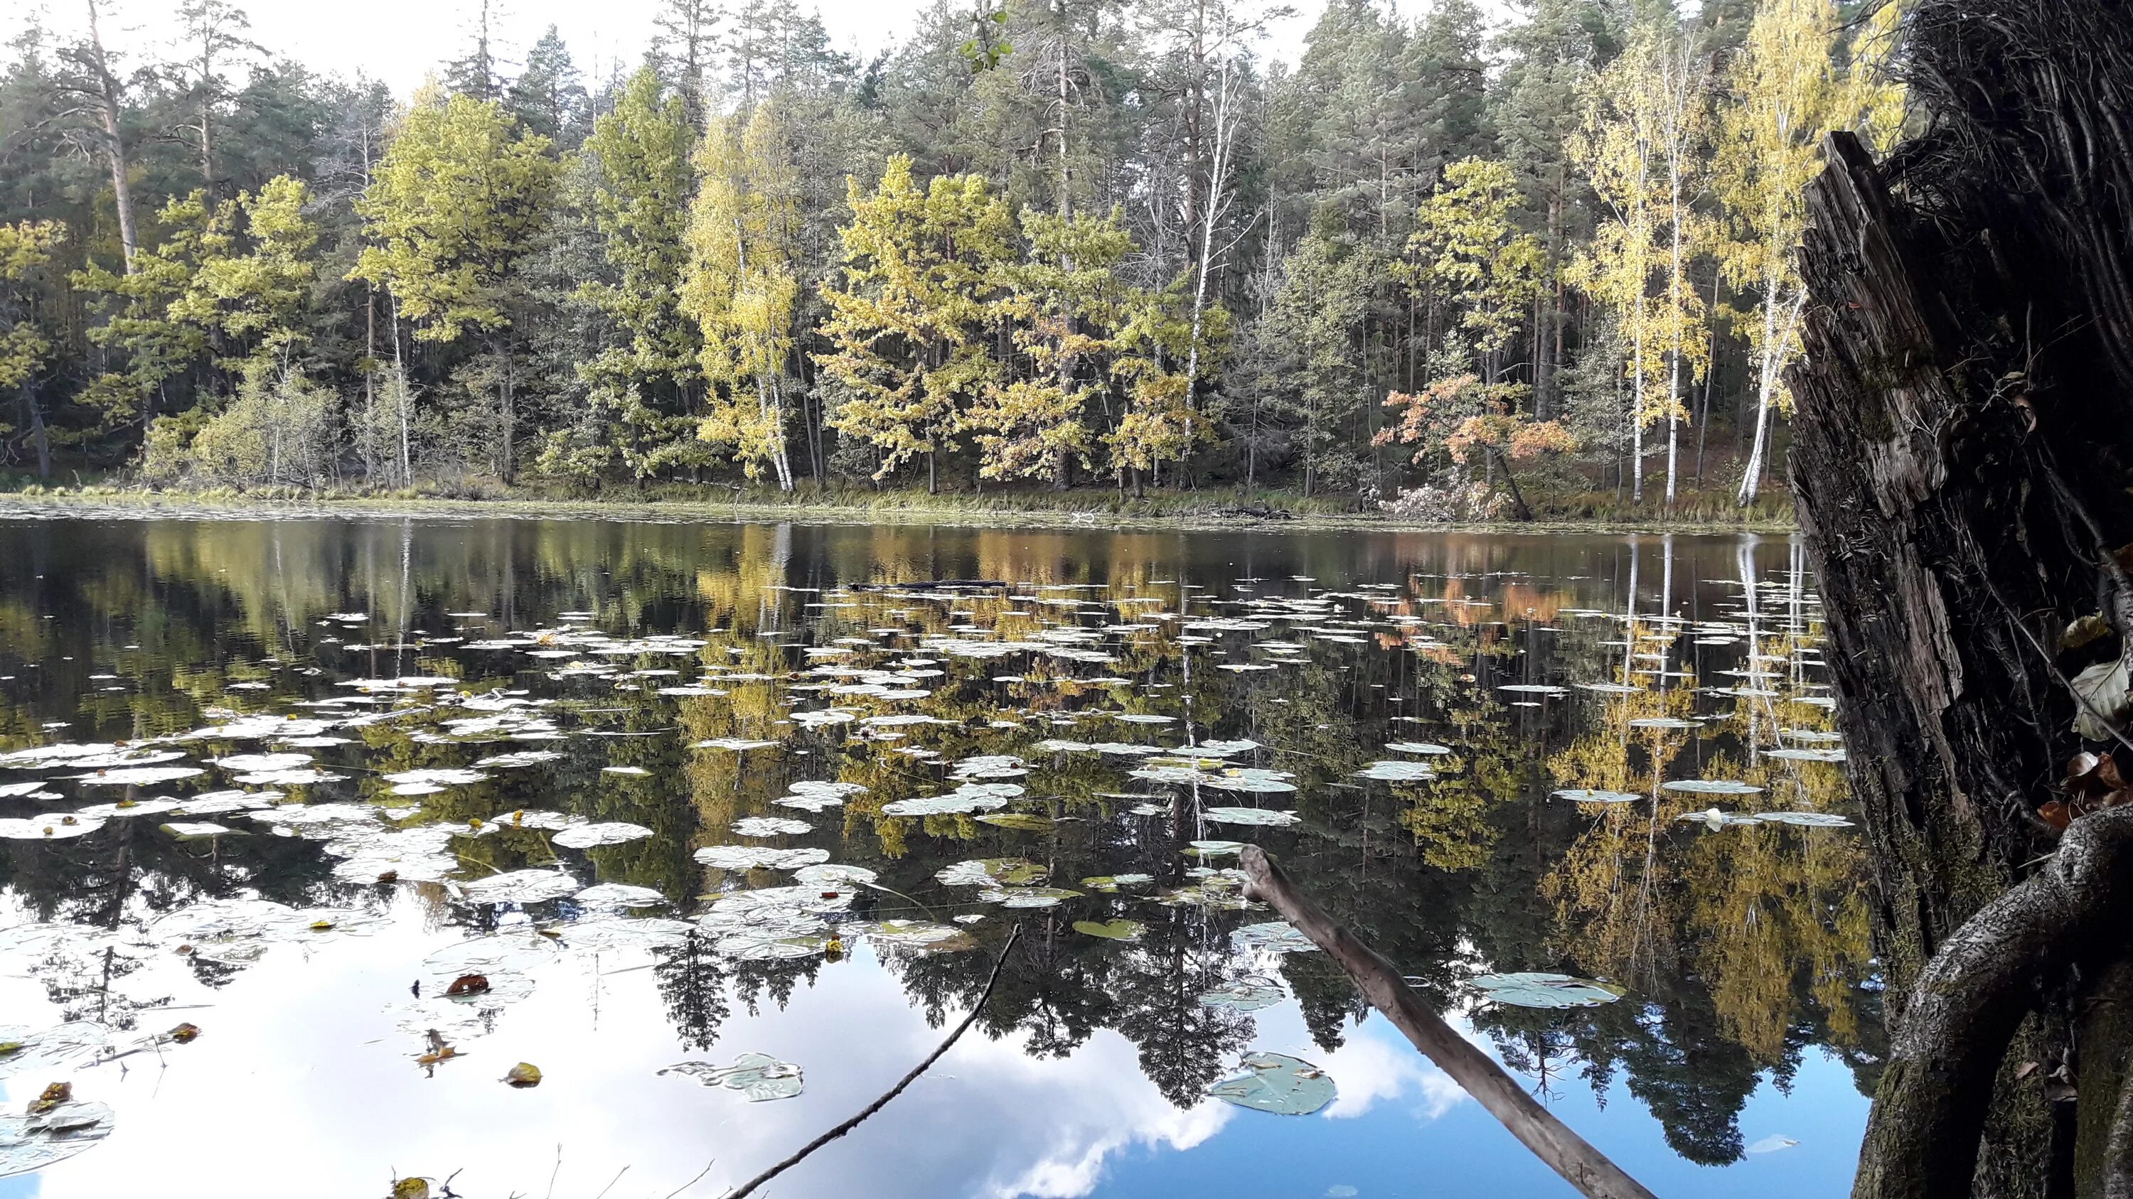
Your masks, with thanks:
[{"label": "dark weathered tree trunk with rough, splintered bark at right", "polygon": [[[1920,0],[1907,26],[1928,132],[1883,166],[1830,139],[1790,375],[1896,1030],[1856,1195],[2101,1195],[2129,1022],[2095,979],[2122,973],[2129,900],[2067,892],[2065,922],[2112,930],[2086,962],[1994,930],[1999,907],[1964,922],[2075,866],[2035,815],[2082,749],[2067,678],[2133,644],[2112,563],[2133,542],[2133,9]],[[2063,651],[2086,614],[2112,634]]]}]

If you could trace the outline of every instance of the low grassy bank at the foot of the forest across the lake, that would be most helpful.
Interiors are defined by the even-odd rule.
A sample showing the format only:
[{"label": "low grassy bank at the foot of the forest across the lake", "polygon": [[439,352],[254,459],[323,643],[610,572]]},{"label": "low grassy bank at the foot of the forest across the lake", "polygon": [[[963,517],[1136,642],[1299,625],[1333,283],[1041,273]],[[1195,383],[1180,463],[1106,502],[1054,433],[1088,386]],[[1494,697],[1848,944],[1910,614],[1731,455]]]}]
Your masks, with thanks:
[{"label": "low grassy bank at the foot of the forest across the lake", "polygon": [[1743,512],[1717,491],[1683,495],[1672,512],[1662,503],[1632,508],[1613,493],[1536,495],[1531,523],[1427,523],[1363,510],[1350,497],[1303,497],[1288,491],[1162,491],[1120,497],[1109,489],[983,493],[804,489],[738,491],[729,486],[659,484],[599,495],[563,495],[495,482],[422,484],[405,491],[207,489],[156,491],[122,480],[51,486],[0,480],[0,510],[105,512],[111,516],[533,516],[612,521],[808,521],[857,525],[1022,525],[1022,527],[1258,527],[1258,529],[1489,529],[1489,531],[1760,531],[1792,529],[1785,497]]}]

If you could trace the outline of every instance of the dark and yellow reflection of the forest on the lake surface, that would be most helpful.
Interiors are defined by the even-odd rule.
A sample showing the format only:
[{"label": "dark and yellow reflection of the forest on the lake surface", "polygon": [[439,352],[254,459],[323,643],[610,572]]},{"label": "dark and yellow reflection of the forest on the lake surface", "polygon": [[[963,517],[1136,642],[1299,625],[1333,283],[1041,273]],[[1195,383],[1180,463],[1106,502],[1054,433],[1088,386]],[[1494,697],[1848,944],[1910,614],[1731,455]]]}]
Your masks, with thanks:
[{"label": "dark and yellow reflection of the forest on the lake surface", "polygon": [[[689,1048],[715,1045],[736,1009],[783,1007],[796,988],[832,986],[836,958],[855,949],[866,922],[966,915],[977,920],[964,924],[962,945],[998,943],[1007,920],[1022,922],[979,1028],[1020,1030],[1035,1056],[1064,1056],[1111,1028],[1171,1103],[1194,1105],[1254,1035],[1252,1013],[1201,996],[1248,977],[1286,986],[1312,1039],[1335,1050],[1361,1009],[1322,956],[1239,952],[1231,930],[1263,913],[1152,898],[1190,888],[1194,868],[1222,866],[1182,853],[1190,841],[1226,838],[1280,853],[1438,1005],[1472,1007],[1463,984],[1482,971],[1627,986],[1627,998],[1604,1007],[1478,1005],[1472,1022],[1538,1086],[1625,1082],[1696,1163],[1743,1154],[1745,1099],[1766,1073],[1783,1084],[1809,1048],[1851,1062],[1862,1090],[1881,1056],[1856,834],[1706,830],[1679,817],[1713,796],[1662,785],[1730,779],[1764,789],[1728,804],[1743,811],[1845,811],[1841,766],[1768,755],[1826,749],[1830,738],[1815,734],[1834,728],[1813,702],[1824,693],[1819,625],[1785,542],[47,521],[0,527],[0,555],[15,563],[0,593],[6,747],[141,742],[245,713],[384,710],[339,732],[348,745],[307,749],[348,781],[292,798],[418,802],[420,813],[395,817],[399,828],[469,830],[450,838],[456,879],[561,862],[580,883],[653,888],[670,900],[668,915],[689,915],[710,896],[791,881],[783,870],[700,866],[700,847],[821,847],[832,862],[877,873],[879,885],[851,900],[853,943],[840,937],[843,949],[747,960],[719,952],[710,932],[661,947],[642,977]],[[911,587],[932,580],[1007,587]],[[365,619],[333,619],[354,614]],[[542,629],[561,640],[469,646]],[[702,644],[683,655],[599,653],[567,629]],[[1026,649],[990,655],[988,642]],[[529,653],[542,646],[580,653]],[[898,678],[868,683],[866,672]],[[399,676],[456,683],[435,696],[386,691],[384,704],[299,706],[350,700],[352,678]],[[469,715],[456,698],[488,693],[540,702],[563,736],[450,736],[444,721]],[[832,706],[851,719],[791,719]],[[868,723],[881,715],[926,721]],[[723,738],[768,745],[691,749]],[[1222,764],[1288,772],[1295,792],[1160,785],[1130,777],[1143,757],[1041,745],[1158,745],[1190,760],[1194,745],[1239,738],[1256,747]],[[205,760],[260,745],[183,749]],[[561,757],[418,800],[390,796],[382,781],[512,749]],[[1024,794],[1007,811],[1049,817],[1049,828],[883,813],[953,789],[947,768],[975,755],[1022,757],[1026,774],[1013,783]],[[1436,772],[1357,779],[1380,760]],[[819,813],[779,806],[796,781],[864,792]],[[224,785],[220,774],[196,783]],[[0,800],[0,815],[111,798],[55,787],[64,800]],[[1640,800],[1553,798],[1574,787]],[[1295,809],[1301,824],[1201,815],[1224,804]],[[535,828],[480,828],[520,809],[627,821],[651,836],[576,851]],[[764,815],[813,828],[736,836],[738,819]],[[977,858],[1028,858],[1049,885],[1081,894],[1003,909],[934,881],[943,866]],[[469,937],[518,920],[514,905],[467,905],[448,883],[365,883],[333,870],[318,838],[186,841],[154,817],[113,819],[75,841],[0,841],[6,922],[81,930],[53,945],[23,941],[21,928],[0,932],[0,956],[34,973],[68,1018],[130,1030],[141,1007],[169,998],[128,986],[154,952],[143,928],[201,900],[382,911],[412,892],[429,922]],[[1081,883],[1116,875],[1154,881],[1116,892]],[[584,915],[570,900],[529,911],[540,922]],[[1145,926],[1139,941],[1073,930],[1077,920],[1120,917]],[[881,947],[879,958],[936,1026],[990,971],[975,952]],[[196,954],[190,966],[220,986],[245,962]]]}]

